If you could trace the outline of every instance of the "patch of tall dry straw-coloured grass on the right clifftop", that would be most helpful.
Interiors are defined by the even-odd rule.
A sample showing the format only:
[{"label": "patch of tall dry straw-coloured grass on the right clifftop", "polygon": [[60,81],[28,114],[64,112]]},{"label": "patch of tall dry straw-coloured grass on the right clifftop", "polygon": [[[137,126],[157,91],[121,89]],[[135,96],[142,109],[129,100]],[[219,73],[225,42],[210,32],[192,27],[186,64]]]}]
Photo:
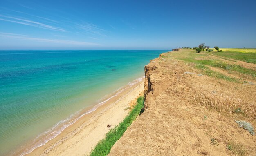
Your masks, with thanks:
[{"label": "patch of tall dry straw-coloured grass on the right clifftop", "polygon": [[197,93],[193,100],[194,103],[203,105],[207,109],[216,109],[227,114],[241,114],[250,119],[256,119],[256,105],[243,102],[239,98],[231,98],[222,94]]}]

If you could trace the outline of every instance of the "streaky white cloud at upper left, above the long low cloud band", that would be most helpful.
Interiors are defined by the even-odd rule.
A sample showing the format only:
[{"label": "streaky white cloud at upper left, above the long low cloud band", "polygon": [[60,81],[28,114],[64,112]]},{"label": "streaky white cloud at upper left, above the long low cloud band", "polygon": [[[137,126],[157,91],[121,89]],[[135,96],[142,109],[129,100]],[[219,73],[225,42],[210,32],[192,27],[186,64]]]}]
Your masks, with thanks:
[{"label": "streaky white cloud at upper left, above the long low cloud band", "polygon": [[8,21],[8,22],[14,22],[14,23],[19,23],[22,25],[30,25],[30,26],[34,26],[34,27],[39,27],[39,28],[43,28],[43,29],[50,29],[50,30],[54,30],[54,31],[63,31],[65,32],[65,29],[62,28],[57,28],[51,25],[46,25],[40,22],[36,22],[36,21],[32,21],[32,20],[27,20],[25,18],[16,18],[16,17],[12,17],[12,16],[5,16],[5,15],[1,15],[0,14],[0,20],[3,21]]}]

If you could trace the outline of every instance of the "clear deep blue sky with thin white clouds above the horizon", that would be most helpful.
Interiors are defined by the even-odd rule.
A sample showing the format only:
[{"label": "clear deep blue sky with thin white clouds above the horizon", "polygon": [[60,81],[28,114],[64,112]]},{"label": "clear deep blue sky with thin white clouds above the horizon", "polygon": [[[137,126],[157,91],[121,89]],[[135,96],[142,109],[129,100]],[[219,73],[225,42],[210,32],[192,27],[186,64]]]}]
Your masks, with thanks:
[{"label": "clear deep blue sky with thin white clouds above the horizon", "polygon": [[256,48],[255,0],[1,0],[0,49]]}]

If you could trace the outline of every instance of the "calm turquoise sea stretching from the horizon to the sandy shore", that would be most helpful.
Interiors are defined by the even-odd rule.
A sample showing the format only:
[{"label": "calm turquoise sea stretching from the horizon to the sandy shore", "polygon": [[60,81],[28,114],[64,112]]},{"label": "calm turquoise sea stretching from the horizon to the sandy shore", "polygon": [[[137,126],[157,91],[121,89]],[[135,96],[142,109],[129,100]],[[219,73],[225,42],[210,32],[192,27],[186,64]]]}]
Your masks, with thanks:
[{"label": "calm turquoise sea stretching from the horizon to the sandy shore", "polygon": [[[0,155],[43,145],[164,51],[0,51]],[[46,139],[47,138],[47,139]],[[34,143],[33,143],[34,144]]]}]

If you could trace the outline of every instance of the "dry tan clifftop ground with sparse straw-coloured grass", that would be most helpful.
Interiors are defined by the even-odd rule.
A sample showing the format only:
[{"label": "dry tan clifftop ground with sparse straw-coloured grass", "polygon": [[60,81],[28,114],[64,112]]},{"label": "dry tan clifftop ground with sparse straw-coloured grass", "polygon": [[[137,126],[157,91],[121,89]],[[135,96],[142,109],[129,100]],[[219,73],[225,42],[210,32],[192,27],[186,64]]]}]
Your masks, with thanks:
[{"label": "dry tan clifftop ground with sparse straw-coloured grass", "polygon": [[[166,57],[151,60],[145,67],[146,110],[109,156],[256,156],[256,136],[235,122],[248,121],[255,129],[255,118],[206,109],[193,100],[198,93],[221,94],[251,103],[255,109],[256,85],[198,76],[202,74],[198,69],[168,53],[162,56]],[[196,74],[184,74],[186,71]]]}]

